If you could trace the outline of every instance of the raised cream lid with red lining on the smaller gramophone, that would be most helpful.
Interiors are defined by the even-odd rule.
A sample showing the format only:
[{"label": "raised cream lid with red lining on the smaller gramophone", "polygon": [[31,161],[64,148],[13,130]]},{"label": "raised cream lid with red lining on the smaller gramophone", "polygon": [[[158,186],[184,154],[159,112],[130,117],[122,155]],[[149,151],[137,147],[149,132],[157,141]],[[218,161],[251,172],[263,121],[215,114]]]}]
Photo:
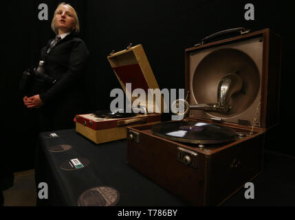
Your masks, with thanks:
[{"label": "raised cream lid with red lining on the smaller gramophone", "polygon": [[[107,56],[107,59],[113,69],[113,72],[116,74],[122,89],[124,89],[129,102],[133,102],[137,97],[132,97],[131,94],[127,94],[126,84],[131,83],[131,93],[134,89],[143,89],[146,92],[146,99],[148,98],[148,89],[159,89],[157,80],[151,69],[148,58],[144,52],[142,45],[135,45],[133,47],[128,47],[126,50],[116,52]],[[164,111],[164,102],[163,97],[161,96],[162,108],[161,106],[154,105],[153,103],[140,103],[140,105],[148,108],[147,104],[152,104],[153,112],[163,112]],[[153,106],[154,105],[154,106]]]}]

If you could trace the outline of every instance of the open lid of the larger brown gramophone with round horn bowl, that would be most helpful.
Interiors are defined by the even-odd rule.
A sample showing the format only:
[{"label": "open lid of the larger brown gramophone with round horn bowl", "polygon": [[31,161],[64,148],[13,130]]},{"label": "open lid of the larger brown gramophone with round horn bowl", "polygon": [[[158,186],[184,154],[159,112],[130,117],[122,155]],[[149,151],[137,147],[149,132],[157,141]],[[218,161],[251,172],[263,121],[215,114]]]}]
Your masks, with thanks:
[{"label": "open lid of the larger brown gramophone with round horn bowl", "polygon": [[186,91],[190,104],[217,102],[226,74],[238,74],[243,86],[230,98],[228,113],[190,110],[189,117],[264,129],[278,123],[281,38],[269,29],[186,49]]}]

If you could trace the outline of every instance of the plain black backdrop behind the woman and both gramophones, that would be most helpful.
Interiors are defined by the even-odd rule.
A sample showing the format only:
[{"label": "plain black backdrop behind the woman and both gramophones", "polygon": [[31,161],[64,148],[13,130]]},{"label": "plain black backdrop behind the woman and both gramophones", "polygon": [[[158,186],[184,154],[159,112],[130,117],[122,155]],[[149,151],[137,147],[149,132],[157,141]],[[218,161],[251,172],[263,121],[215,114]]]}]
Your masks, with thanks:
[{"label": "plain black backdrop behind the woman and both gramophones", "polygon": [[[34,122],[26,117],[18,91],[23,70],[34,67],[39,52],[54,37],[50,23],[62,1],[9,1],[1,12],[1,158],[14,172],[34,168]],[[184,50],[209,34],[228,28],[270,28],[283,39],[281,69],[281,122],[267,132],[265,148],[295,155],[292,139],[292,69],[291,5],[283,1],[66,1],[80,19],[80,36],[91,54],[81,82],[87,109],[109,107],[109,93],[120,84],[107,61],[112,50],[124,50],[129,43],[142,44],[160,89],[184,88]],[[38,5],[49,7],[48,21],[39,21]],[[244,6],[254,4],[255,20],[245,21]],[[289,10],[289,11],[288,11]],[[278,82],[279,83],[279,82]],[[285,97],[288,97],[286,99]],[[291,104],[292,106],[292,104]],[[86,112],[86,113],[89,113]]]}]

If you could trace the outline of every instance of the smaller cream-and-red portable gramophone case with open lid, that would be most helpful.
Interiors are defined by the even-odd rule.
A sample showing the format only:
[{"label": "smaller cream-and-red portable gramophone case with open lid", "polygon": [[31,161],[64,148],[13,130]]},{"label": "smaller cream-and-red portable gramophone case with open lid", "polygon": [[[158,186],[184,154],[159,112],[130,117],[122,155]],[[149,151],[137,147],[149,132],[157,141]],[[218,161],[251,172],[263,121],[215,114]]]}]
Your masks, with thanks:
[{"label": "smaller cream-and-red portable gramophone case with open lid", "polygon": [[[133,103],[137,99],[131,96],[134,89],[141,88],[146,92],[148,89],[159,89],[142,45],[134,47],[130,45],[126,50],[110,54],[107,59],[124,92],[127,93],[129,102]],[[131,91],[126,89],[127,83],[131,83]],[[164,103],[162,97],[161,103]],[[143,100],[140,105],[146,107],[146,110],[150,107],[153,112],[160,113],[139,113],[131,118],[100,118],[93,113],[76,115],[76,131],[96,144],[100,144],[126,138],[127,125],[161,121],[162,108],[157,105],[157,102],[149,103],[146,97],[145,102]]]}]

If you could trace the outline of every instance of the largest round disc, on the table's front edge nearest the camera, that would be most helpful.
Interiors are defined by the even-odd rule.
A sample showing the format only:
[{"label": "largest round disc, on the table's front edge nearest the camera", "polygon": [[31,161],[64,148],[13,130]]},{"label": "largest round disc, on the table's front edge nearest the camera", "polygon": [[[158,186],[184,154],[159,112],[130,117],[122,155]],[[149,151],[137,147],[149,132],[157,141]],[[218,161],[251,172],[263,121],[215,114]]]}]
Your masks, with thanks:
[{"label": "largest round disc, on the table's front edge nearest the camera", "polygon": [[78,206],[115,206],[120,199],[116,188],[98,186],[86,190],[78,197]]}]

